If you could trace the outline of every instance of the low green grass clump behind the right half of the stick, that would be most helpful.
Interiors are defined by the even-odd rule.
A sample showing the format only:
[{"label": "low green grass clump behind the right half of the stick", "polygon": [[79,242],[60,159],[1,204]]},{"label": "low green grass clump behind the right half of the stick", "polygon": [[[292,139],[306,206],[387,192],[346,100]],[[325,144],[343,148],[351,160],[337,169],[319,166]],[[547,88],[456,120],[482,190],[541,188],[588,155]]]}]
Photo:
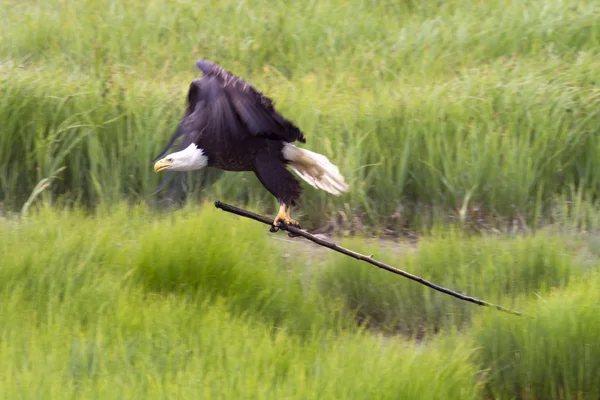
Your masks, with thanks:
[{"label": "low green grass clump behind the right half of the stick", "polygon": [[[443,287],[518,310],[536,298],[589,273],[589,263],[563,237],[540,233],[518,239],[464,237],[456,231],[426,237],[415,249],[351,240],[345,247],[396,266]],[[487,314],[467,303],[364,262],[328,258],[323,291],[345,299],[345,306],[367,326],[413,337],[469,327],[473,315]]]}]

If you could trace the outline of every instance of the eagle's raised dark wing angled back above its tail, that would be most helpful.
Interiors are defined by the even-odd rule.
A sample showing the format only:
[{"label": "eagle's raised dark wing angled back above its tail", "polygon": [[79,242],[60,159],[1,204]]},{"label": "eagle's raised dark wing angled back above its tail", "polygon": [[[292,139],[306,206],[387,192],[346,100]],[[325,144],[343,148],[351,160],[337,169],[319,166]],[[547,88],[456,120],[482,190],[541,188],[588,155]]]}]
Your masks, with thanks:
[{"label": "eagle's raised dark wing angled back above its tail", "polygon": [[233,110],[247,129],[247,132],[243,133],[286,142],[298,140],[306,143],[300,129],[277,112],[273,101],[252,85],[207,60],[198,60],[196,66],[205,77],[214,77],[221,84]]}]

